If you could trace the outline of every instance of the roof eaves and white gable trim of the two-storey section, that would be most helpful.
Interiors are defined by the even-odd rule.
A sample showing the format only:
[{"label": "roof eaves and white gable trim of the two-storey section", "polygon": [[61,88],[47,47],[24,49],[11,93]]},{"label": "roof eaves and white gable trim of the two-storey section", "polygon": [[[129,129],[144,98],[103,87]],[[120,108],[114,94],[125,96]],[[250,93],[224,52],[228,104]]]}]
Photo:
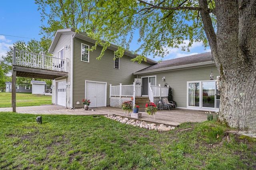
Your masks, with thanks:
[{"label": "roof eaves and white gable trim of the two-storey section", "polygon": [[[88,37],[86,33],[83,33],[83,32],[80,32],[80,31],[79,31],[79,33],[77,33],[76,30],[73,29],[73,28],[58,29],[56,34],[55,34],[55,36],[54,36],[52,44],[51,44],[51,46],[50,46],[50,48],[48,50],[49,53],[53,53],[54,48],[55,48],[55,46],[56,46],[56,44],[57,44],[57,42],[58,42],[58,40],[60,38],[60,35],[63,34],[63,33],[73,33],[74,34],[73,37],[77,37],[79,39],[82,39],[84,41],[88,41],[88,42],[94,43],[94,44],[96,42],[94,39]],[[105,41],[102,41],[102,42],[105,42]],[[118,49],[118,46],[114,45],[114,44],[110,44],[108,49],[116,51]],[[132,58],[135,58],[135,57],[138,56],[137,54],[134,54],[134,53],[132,53],[131,51],[128,51],[128,50],[124,51],[124,55],[130,56]],[[149,58],[147,58],[146,62],[150,63],[150,64],[156,64],[157,63],[156,61],[154,61],[152,59],[149,59]]]}]

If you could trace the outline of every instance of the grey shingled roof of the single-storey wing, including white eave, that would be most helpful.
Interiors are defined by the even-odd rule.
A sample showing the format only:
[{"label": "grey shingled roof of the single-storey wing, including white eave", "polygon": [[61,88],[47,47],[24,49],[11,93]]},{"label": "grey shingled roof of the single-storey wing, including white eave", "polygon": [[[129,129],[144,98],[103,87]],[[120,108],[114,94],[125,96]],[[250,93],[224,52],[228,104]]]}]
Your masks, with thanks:
[{"label": "grey shingled roof of the single-storey wing, including white eave", "polygon": [[139,75],[139,74],[145,74],[150,72],[178,70],[178,69],[207,66],[207,65],[214,65],[214,61],[212,61],[211,52],[162,61],[158,64],[154,64],[152,66],[149,66],[147,68],[134,72],[134,74]]}]

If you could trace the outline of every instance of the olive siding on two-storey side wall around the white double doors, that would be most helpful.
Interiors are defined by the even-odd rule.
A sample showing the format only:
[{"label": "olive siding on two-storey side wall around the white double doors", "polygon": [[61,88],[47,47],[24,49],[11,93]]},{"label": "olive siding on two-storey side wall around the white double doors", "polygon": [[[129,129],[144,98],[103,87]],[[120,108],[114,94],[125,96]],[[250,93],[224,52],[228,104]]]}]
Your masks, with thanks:
[{"label": "olive siding on two-storey side wall around the white double doors", "polygon": [[[142,62],[132,63],[132,58],[124,55],[120,58],[119,69],[114,68],[114,51],[107,49],[102,59],[96,58],[100,55],[102,47],[98,45],[97,49],[90,51],[89,63],[81,61],[81,43],[92,47],[94,44],[74,38],[74,52],[73,52],[73,107],[82,107],[82,99],[85,96],[85,80],[95,82],[107,82],[107,106],[109,103],[109,86],[110,84],[123,85],[132,84],[136,76],[133,72],[148,67],[151,64]],[[80,102],[77,105],[76,102]]]}]

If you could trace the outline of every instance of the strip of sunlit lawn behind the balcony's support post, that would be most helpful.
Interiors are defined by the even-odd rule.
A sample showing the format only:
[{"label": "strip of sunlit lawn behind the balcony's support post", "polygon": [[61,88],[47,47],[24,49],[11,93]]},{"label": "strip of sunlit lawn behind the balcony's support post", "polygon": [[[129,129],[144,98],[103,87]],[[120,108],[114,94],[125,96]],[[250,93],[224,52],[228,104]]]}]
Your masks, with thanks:
[{"label": "strip of sunlit lawn behind the balcony's support post", "polygon": [[[12,93],[0,92],[0,107],[12,107]],[[16,107],[52,104],[52,96],[16,93]]]}]

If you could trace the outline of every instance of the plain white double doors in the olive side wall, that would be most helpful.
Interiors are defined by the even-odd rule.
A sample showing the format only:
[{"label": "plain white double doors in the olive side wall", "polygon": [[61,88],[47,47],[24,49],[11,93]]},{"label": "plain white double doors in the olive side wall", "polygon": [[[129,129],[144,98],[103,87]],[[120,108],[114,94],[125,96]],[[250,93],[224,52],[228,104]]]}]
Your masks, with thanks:
[{"label": "plain white double doors in the olive side wall", "polygon": [[85,98],[90,99],[90,107],[106,106],[106,83],[85,82]]}]

